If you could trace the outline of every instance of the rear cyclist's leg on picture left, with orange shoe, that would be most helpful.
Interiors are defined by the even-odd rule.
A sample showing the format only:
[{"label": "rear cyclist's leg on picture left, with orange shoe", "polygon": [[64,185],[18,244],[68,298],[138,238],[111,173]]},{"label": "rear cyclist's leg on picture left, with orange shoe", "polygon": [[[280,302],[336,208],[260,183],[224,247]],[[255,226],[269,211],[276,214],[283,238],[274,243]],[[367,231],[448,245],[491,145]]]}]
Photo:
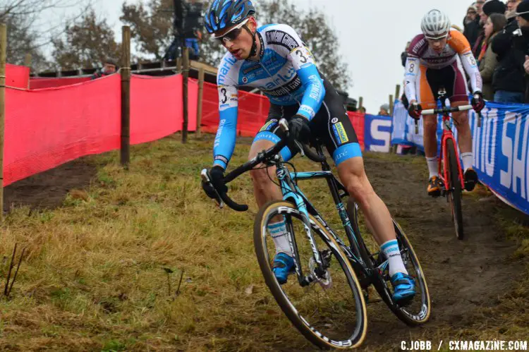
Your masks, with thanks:
[{"label": "rear cyclist's leg on picture left, with orange shoe", "polygon": [[[421,66],[420,70],[420,104],[422,109],[432,109],[436,106],[437,91],[443,83],[443,70],[432,70]],[[439,183],[439,160],[437,159],[437,115],[423,116],[423,142],[425,146],[426,164],[428,165],[429,179],[427,186],[428,195],[437,197],[441,195]]]}]

